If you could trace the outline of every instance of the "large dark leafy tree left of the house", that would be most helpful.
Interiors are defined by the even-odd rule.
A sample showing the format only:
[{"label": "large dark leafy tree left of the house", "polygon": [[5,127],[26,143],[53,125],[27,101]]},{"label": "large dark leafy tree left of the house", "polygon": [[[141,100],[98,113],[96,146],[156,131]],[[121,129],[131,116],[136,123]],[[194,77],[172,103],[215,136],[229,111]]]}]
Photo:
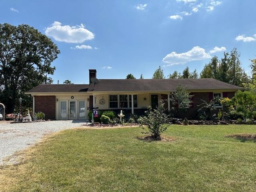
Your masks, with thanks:
[{"label": "large dark leafy tree left of the house", "polygon": [[56,44],[35,28],[22,24],[0,24],[0,100],[6,112],[14,112],[24,92],[47,81],[51,66],[60,51]]}]

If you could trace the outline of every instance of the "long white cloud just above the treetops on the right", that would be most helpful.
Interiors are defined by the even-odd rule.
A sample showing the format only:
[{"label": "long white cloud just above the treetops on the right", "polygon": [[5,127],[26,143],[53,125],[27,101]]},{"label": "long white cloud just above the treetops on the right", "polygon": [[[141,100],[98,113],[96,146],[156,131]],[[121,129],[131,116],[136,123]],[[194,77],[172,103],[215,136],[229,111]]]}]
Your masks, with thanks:
[{"label": "long white cloud just above the treetops on the right", "polygon": [[175,65],[175,64],[184,64],[190,61],[196,60],[204,60],[211,58],[209,53],[206,53],[204,48],[200,46],[195,46],[188,52],[184,53],[176,53],[171,52],[163,58],[163,62],[168,63],[167,66]]}]

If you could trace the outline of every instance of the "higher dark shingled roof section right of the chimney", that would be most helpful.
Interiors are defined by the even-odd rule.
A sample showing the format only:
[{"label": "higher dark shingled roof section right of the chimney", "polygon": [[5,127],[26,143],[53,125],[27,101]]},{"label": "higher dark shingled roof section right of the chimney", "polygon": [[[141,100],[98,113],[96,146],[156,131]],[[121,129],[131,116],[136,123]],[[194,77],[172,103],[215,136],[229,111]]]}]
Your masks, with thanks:
[{"label": "higher dark shingled roof section right of the chimney", "polygon": [[100,79],[89,90],[95,91],[172,91],[178,85],[187,90],[240,90],[242,87],[213,78],[200,79]]}]

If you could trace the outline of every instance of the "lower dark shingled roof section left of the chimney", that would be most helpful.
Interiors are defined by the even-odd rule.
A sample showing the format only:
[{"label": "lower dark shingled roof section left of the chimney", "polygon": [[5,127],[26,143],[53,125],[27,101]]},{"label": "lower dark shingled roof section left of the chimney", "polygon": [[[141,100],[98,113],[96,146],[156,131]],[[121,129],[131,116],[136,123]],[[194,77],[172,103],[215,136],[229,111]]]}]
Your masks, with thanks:
[{"label": "lower dark shingled roof section left of the chimney", "polygon": [[88,84],[40,84],[27,93],[37,92],[86,92]]}]

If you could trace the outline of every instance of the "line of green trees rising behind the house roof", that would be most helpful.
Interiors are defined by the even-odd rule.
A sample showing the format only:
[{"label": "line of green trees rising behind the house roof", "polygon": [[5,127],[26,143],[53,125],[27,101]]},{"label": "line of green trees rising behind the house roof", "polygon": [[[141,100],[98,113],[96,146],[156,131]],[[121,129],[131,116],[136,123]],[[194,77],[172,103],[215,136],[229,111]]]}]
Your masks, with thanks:
[{"label": "line of green trees rising behind the house roof", "polygon": [[[250,67],[252,69],[252,76],[250,77],[242,68],[239,58],[240,52],[238,52],[236,48],[233,48],[230,52],[224,52],[223,57],[220,59],[217,56],[212,57],[210,62],[205,64],[200,74],[198,74],[196,69],[190,72],[187,66],[182,73],[174,71],[169,74],[167,78],[214,78],[226,83],[249,88],[249,86],[253,86],[251,84],[256,84],[256,59],[251,60]],[[143,78],[142,74],[140,78]],[[164,70],[159,66],[155,70],[152,79],[164,78],[166,78],[164,76]],[[135,79],[135,77],[132,74],[128,74],[126,79]]]}]

